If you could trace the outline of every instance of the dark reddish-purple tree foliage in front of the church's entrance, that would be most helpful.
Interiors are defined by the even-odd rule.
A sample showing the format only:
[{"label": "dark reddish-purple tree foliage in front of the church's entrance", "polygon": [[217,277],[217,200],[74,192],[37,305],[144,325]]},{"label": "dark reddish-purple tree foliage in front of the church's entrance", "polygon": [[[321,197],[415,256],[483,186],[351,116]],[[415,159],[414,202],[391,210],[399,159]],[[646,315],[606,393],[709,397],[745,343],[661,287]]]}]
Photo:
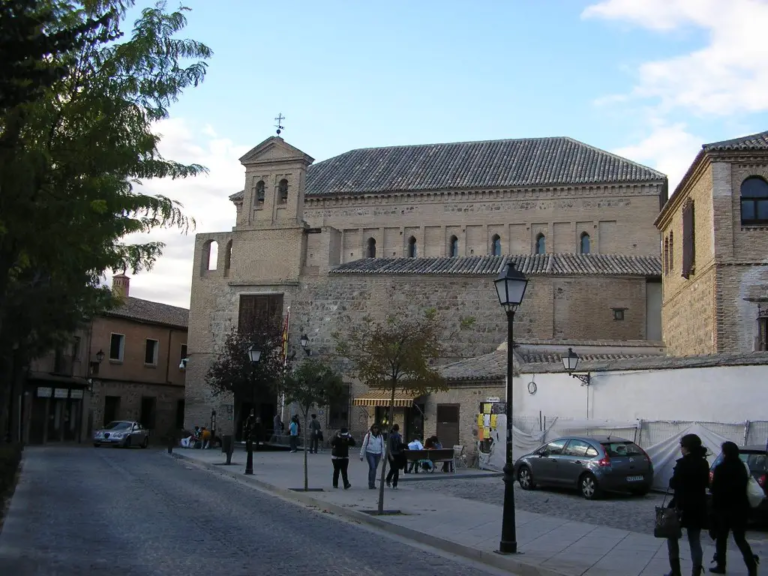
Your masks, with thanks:
[{"label": "dark reddish-purple tree foliage in front of the church's entrance", "polygon": [[[237,400],[255,403],[263,394],[277,394],[288,368],[283,358],[282,326],[279,319],[265,319],[257,326],[250,332],[233,329],[227,335],[205,377],[214,396],[231,393]],[[252,347],[261,351],[256,363],[248,354]]]}]

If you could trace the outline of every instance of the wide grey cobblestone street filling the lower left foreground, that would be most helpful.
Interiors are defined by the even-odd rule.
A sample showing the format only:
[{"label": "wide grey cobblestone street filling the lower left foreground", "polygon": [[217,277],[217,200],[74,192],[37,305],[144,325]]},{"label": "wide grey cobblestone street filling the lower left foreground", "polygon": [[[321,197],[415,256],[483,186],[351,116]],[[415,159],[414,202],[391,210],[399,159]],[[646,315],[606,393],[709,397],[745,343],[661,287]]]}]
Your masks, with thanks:
[{"label": "wide grey cobblestone street filling the lower left foreground", "polygon": [[498,574],[161,451],[28,448],[0,534],[13,576]]}]

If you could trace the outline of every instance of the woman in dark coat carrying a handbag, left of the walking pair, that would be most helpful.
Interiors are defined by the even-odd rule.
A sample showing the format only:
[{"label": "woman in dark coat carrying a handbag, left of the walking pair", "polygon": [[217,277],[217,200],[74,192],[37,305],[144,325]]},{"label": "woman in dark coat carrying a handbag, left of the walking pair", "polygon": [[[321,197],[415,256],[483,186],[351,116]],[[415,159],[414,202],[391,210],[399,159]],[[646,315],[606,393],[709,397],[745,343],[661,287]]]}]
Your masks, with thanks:
[{"label": "woman in dark coat carrying a handbag, left of the walking pair", "polygon": [[[704,573],[704,552],[701,549],[701,531],[707,526],[707,486],[709,485],[709,464],[707,449],[696,434],[686,434],[680,439],[683,457],[675,464],[669,487],[674,497],[670,508],[680,511],[680,525],[688,533],[691,548],[693,576]],[[680,542],[677,538],[667,540],[669,565],[672,571],[667,576],[681,576]]]}]

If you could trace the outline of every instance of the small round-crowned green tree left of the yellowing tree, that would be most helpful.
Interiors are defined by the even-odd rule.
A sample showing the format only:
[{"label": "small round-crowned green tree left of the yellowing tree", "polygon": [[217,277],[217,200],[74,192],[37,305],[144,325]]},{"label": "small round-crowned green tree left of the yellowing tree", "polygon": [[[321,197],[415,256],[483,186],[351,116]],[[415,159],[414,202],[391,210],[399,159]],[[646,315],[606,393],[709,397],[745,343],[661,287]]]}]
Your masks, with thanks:
[{"label": "small round-crowned green tree left of the yellowing tree", "polygon": [[304,418],[304,491],[309,490],[307,466],[307,433],[309,413],[315,406],[328,406],[344,394],[341,376],[319,360],[302,362],[293,373],[286,374],[281,382],[285,401],[295,402]]}]

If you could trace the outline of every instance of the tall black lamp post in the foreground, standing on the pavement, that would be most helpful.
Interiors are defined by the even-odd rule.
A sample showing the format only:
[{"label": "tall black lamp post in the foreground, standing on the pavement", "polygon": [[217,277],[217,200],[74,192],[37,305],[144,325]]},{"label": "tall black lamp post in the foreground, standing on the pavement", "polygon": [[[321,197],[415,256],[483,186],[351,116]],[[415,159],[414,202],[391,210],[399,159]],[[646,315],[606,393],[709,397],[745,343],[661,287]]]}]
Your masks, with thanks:
[{"label": "tall black lamp post in the foreground, standing on the pavement", "polygon": [[507,262],[506,270],[502,270],[494,280],[499,304],[507,312],[507,451],[504,464],[504,512],[501,521],[501,554],[517,553],[517,527],[515,525],[515,468],[512,461],[512,367],[513,367],[513,326],[515,312],[523,301],[528,279],[525,274],[515,270],[513,262]]}]

